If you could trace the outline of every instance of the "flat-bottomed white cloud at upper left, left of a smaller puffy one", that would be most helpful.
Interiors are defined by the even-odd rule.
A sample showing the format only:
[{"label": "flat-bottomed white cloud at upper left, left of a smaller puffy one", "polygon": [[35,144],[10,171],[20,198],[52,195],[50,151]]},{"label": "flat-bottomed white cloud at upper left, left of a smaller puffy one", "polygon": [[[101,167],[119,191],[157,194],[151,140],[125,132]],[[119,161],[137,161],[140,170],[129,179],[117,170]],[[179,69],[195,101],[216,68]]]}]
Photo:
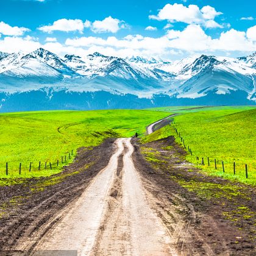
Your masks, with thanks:
[{"label": "flat-bottomed white cloud at upper left, left of a smaller puffy one", "polygon": [[54,21],[52,25],[41,26],[38,29],[46,33],[52,33],[55,30],[64,32],[79,31],[82,33],[84,30],[84,23],[82,20],[61,19]]}]

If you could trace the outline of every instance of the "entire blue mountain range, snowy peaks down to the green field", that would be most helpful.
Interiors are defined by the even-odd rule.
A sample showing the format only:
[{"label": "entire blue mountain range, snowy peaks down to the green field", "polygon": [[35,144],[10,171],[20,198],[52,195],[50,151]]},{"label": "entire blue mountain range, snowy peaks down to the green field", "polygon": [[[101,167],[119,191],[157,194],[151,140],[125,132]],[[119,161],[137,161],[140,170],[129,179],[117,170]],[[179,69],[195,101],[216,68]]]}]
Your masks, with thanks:
[{"label": "entire blue mountain range, snowy peaks down to the green field", "polygon": [[256,52],[176,62],[0,52],[0,111],[256,103]]}]

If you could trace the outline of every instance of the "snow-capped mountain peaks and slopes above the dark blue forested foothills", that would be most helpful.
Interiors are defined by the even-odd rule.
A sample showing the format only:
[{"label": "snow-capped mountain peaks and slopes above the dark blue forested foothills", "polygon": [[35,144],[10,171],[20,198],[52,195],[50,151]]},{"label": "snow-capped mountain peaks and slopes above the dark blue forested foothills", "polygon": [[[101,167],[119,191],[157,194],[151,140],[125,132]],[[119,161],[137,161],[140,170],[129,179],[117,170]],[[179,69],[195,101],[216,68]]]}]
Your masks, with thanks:
[{"label": "snow-capped mountain peaks and slopes above the dark blue forested foothills", "polygon": [[[60,57],[43,48],[30,54],[0,52],[0,93],[4,95],[44,88],[48,92],[132,94],[151,100],[165,95],[172,102],[194,99],[194,104],[210,97],[213,104],[215,99],[216,104],[226,104],[219,99],[240,92],[243,102],[255,104],[255,77],[256,52],[237,59],[201,55],[176,62],[138,56],[122,59],[99,52]],[[239,97],[234,101],[239,103]]]}]

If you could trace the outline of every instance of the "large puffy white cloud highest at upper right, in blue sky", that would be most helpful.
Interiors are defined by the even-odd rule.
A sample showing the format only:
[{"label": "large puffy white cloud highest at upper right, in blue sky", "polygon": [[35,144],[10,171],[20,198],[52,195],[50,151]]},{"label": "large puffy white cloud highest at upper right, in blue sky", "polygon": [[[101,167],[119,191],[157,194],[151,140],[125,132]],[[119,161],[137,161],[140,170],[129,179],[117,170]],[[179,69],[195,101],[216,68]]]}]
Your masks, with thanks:
[{"label": "large puffy white cloud highest at upper right, in blue sky", "polygon": [[214,7],[206,5],[199,9],[197,5],[190,4],[186,7],[183,4],[166,4],[157,15],[149,15],[152,20],[168,20],[170,23],[183,22],[187,24],[202,24],[205,27],[221,27],[215,17],[221,15]]}]

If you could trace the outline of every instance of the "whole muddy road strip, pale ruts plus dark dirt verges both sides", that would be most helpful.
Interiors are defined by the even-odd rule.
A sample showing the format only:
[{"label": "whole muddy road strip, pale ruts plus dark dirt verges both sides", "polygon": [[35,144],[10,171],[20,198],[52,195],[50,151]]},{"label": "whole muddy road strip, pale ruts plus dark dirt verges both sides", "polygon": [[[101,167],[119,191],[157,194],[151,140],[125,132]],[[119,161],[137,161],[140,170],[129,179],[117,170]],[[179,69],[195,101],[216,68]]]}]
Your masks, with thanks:
[{"label": "whole muddy road strip, pale ruts plus dark dirt verges both sides", "polygon": [[185,154],[173,137],[109,139],[60,174],[5,187],[0,255],[255,255],[254,188],[236,184],[235,197]]}]

